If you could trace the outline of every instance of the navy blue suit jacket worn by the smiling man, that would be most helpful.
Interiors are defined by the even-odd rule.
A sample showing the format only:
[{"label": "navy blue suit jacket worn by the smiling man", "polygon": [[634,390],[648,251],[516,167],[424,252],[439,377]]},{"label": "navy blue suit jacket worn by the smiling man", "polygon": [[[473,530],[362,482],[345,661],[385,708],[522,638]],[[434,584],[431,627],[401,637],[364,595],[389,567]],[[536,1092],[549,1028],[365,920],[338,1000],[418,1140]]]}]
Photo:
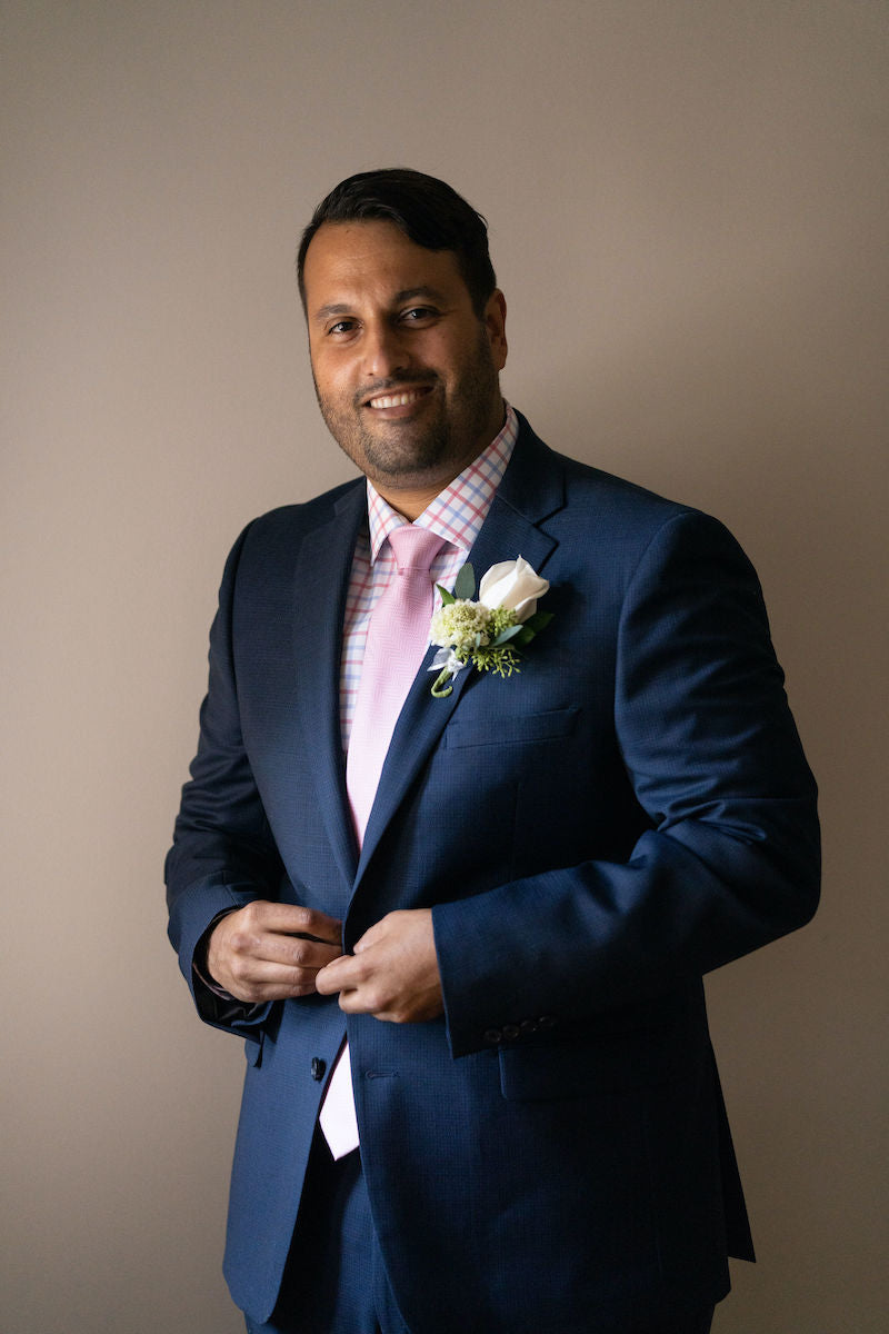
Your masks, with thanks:
[{"label": "navy blue suit jacket worn by the smiling man", "polygon": [[[801,926],[816,790],[756,575],[716,520],[520,438],[472,551],[554,614],[521,674],[421,670],[359,855],[339,663],[363,480],[256,520],[225,570],[171,938],[245,1039],[225,1271],[275,1305],[344,1031],[361,1155],[412,1334],[614,1334],[752,1258],[702,974]],[[429,660],[432,651],[429,654]],[[432,907],[445,1014],[225,1006],[192,960],[253,898],[344,919]],[[317,1058],[317,1059],[316,1059]],[[750,1053],[754,1059],[754,1053]],[[598,1322],[598,1323],[597,1323]]]}]

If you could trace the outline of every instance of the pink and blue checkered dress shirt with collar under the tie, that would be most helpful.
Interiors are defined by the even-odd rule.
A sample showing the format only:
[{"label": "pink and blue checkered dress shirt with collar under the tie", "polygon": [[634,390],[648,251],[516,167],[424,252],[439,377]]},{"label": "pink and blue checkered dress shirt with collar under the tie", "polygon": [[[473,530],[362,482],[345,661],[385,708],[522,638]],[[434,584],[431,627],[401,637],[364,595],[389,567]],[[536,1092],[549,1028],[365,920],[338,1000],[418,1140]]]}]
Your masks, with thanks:
[{"label": "pink and blue checkered dress shirt with collar under the tie", "polygon": [[[516,414],[506,404],[506,420],[500,434],[416,520],[419,528],[432,528],[446,542],[432,562],[432,576],[445,588],[453,587],[457,572],[478,536],[494,491],[512,458],[517,435]],[[344,751],[349,746],[371,612],[383,590],[396,576],[397,567],[389,546],[389,534],[393,528],[403,527],[405,522],[404,515],[393,510],[368,482],[368,527],[359,534],[355,546],[343,620],[340,726]]]}]

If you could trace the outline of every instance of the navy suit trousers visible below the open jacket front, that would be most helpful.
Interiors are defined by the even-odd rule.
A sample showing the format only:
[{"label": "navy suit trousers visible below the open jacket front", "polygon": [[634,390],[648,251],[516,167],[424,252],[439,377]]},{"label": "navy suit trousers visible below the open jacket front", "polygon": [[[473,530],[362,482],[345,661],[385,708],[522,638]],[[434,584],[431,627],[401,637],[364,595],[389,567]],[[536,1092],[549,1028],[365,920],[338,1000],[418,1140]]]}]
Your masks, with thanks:
[{"label": "navy suit trousers visible below the open jacket front", "polygon": [[[632,1334],[709,1334],[712,1322],[710,1306]],[[248,1315],[247,1334],[411,1334],[387,1278],[360,1153],[335,1162],[317,1129],[277,1305],[265,1323]],[[589,1334],[610,1331],[590,1323]]]}]

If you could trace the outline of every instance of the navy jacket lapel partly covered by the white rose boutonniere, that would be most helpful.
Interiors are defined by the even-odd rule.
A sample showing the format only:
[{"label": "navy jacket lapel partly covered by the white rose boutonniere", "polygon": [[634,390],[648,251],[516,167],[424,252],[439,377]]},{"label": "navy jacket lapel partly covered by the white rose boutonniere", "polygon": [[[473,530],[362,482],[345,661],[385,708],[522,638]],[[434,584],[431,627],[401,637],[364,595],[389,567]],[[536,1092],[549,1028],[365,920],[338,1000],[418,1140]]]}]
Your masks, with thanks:
[{"label": "navy jacket lapel partly covered by the white rose boutonniere", "polygon": [[[469,554],[476,580],[500,560],[524,556],[538,574],[556,547],[556,539],[542,528],[544,519],[564,504],[564,478],[553,454],[537,439],[520,416],[520,434],[504,479],[494,495],[476,543]],[[461,671],[446,699],[429,694],[435,676],[429,648],[423,667],[408,692],[380,775],[376,800],[359,860],[356,886],[364,874],[387,824],[407,790],[437,744],[449,718],[460,703],[472,668]]]}]

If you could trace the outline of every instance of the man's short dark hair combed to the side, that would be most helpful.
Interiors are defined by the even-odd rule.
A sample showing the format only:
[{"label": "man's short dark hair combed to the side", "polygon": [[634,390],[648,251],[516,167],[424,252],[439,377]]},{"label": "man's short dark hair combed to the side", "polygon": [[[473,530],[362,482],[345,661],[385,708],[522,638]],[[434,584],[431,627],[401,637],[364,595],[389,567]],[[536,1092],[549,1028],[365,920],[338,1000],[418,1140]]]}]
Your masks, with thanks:
[{"label": "man's short dark hair combed to the side", "polygon": [[424,249],[453,251],[476,315],[481,317],[497,285],[488,253],[488,224],[456,189],[408,167],[363,171],[340,181],[312,213],[296,257],[305,309],[305,253],[323,223],[384,217]]}]

